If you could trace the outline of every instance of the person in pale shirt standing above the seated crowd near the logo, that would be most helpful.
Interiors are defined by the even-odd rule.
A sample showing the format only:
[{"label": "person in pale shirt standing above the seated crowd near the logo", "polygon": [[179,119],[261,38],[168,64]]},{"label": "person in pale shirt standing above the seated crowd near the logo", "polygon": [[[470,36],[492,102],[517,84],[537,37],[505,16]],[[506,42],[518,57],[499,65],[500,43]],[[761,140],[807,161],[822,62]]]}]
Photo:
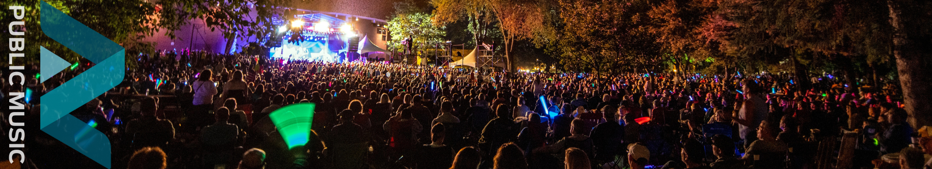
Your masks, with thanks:
[{"label": "person in pale shirt standing above the seated crowd near the logo", "polygon": [[213,122],[208,111],[213,107],[213,95],[217,94],[217,85],[214,84],[211,70],[200,71],[198,80],[191,84],[194,90],[194,111],[191,117],[195,126],[205,126]]}]

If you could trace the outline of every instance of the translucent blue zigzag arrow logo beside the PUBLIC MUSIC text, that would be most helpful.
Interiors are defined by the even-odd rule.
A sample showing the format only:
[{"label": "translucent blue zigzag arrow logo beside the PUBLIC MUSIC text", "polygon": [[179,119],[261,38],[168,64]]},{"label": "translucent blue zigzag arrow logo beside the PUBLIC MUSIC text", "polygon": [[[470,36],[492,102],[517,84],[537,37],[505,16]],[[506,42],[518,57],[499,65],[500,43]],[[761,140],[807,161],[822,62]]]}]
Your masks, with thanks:
[{"label": "translucent blue zigzag arrow logo beside the PUBLIC MUSIC text", "polygon": [[[110,140],[107,136],[68,113],[123,81],[126,49],[45,1],[40,3],[42,32],[96,65],[41,97],[39,127],[94,162],[110,168]],[[45,47],[40,55],[42,81],[62,71],[62,65],[67,64]]]}]

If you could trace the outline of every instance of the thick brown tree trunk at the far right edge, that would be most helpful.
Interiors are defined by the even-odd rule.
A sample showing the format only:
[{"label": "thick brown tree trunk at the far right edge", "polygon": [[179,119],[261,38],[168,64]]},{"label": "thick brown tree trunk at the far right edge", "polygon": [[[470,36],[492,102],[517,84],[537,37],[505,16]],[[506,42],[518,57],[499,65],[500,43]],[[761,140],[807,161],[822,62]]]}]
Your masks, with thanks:
[{"label": "thick brown tree trunk at the far right edge", "polygon": [[[925,11],[907,9],[915,7],[912,1],[887,0],[890,10],[890,24],[894,28],[893,55],[897,58],[897,71],[899,84],[903,90],[903,100],[906,102],[905,110],[909,113],[907,120],[914,129],[925,125],[932,125],[932,53],[928,46],[929,37],[918,32],[917,20],[927,20]],[[909,14],[904,14],[907,12]],[[915,16],[910,16],[915,15]],[[912,29],[908,29],[912,27]],[[924,37],[925,36],[925,37]]]}]

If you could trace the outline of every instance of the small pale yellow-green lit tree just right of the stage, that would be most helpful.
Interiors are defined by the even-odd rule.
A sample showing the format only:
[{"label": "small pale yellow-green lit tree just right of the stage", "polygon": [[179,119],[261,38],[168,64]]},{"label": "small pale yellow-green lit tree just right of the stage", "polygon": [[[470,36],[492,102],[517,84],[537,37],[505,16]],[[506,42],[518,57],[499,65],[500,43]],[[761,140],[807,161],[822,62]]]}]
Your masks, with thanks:
[{"label": "small pale yellow-green lit tree just right of the stage", "polygon": [[432,24],[432,14],[418,9],[412,1],[397,2],[394,6],[395,12],[388,24],[392,37],[389,46],[404,48],[403,41],[408,38],[414,43],[411,51],[444,43],[445,27]]}]

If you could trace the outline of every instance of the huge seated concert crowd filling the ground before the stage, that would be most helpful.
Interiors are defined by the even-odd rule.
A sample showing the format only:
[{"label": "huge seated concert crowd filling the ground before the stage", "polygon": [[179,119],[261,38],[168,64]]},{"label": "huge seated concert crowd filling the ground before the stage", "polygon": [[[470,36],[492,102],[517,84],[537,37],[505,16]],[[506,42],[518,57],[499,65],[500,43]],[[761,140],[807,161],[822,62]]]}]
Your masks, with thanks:
[{"label": "huge seated concert crowd filling the ground before the stage", "polygon": [[[898,86],[851,84],[829,73],[596,75],[238,55],[192,65],[173,58],[140,57],[122,84],[71,113],[110,138],[115,168],[928,169],[932,163],[932,131],[907,123]],[[4,90],[32,91],[26,121],[37,124],[35,98],[88,68]],[[306,112],[313,114],[308,143],[290,147],[269,114],[296,104],[315,109]],[[25,166],[95,164],[52,155],[75,152],[62,152],[70,148],[37,127],[28,130],[29,154],[41,155]]]}]

